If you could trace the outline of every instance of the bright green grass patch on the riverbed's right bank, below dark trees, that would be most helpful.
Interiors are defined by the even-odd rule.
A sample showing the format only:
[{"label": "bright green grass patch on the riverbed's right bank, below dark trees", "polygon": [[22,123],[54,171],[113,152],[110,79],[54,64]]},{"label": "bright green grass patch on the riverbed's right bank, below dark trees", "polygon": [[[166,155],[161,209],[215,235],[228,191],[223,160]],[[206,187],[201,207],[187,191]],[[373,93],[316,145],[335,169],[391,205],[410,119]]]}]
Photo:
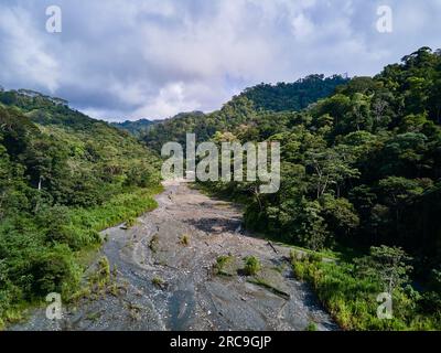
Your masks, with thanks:
[{"label": "bright green grass patch on the riverbed's right bank, below dark trees", "polygon": [[[381,284],[374,278],[359,277],[354,265],[325,263],[313,257],[292,258],[294,276],[313,287],[320,301],[343,330],[407,331],[440,330],[441,309],[422,313],[423,297],[410,287],[394,292],[394,317],[377,317],[377,296]],[[433,310],[435,311],[435,310]]]}]

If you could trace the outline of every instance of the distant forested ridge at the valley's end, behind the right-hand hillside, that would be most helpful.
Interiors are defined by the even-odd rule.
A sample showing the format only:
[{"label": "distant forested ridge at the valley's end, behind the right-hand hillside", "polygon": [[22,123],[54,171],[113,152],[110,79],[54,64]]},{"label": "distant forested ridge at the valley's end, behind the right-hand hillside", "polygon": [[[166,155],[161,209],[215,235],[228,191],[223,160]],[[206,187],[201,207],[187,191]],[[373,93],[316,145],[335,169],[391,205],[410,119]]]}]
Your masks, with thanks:
[{"label": "distant forested ridge at the valley's end, behind the right-hand hillside", "polygon": [[216,131],[241,127],[255,130],[268,128],[271,133],[276,121],[266,121],[270,126],[261,126],[261,111],[298,111],[308,107],[320,98],[327,97],[340,85],[347,83],[346,78],[335,75],[310,75],[295,83],[280,83],[277,85],[258,85],[245,89],[239,96],[233,97],[220,110],[204,115],[201,111],[180,114],[171,119],[149,127],[143,140],[148,146],[160,151],[169,141],[185,142],[187,132],[196,133],[200,141],[209,139]]}]

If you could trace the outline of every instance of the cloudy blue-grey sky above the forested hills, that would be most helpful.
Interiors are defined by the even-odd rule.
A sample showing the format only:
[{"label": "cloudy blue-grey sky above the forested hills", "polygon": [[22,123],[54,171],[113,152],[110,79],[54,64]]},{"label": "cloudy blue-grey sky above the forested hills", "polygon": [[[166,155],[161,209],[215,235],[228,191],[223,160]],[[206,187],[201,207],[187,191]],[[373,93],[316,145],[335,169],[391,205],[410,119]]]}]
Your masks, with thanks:
[{"label": "cloudy blue-grey sky above the forested hills", "polygon": [[0,85],[98,119],[163,119],[262,82],[375,75],[441,47],[440,19],[441,0],[1,0]]}]

